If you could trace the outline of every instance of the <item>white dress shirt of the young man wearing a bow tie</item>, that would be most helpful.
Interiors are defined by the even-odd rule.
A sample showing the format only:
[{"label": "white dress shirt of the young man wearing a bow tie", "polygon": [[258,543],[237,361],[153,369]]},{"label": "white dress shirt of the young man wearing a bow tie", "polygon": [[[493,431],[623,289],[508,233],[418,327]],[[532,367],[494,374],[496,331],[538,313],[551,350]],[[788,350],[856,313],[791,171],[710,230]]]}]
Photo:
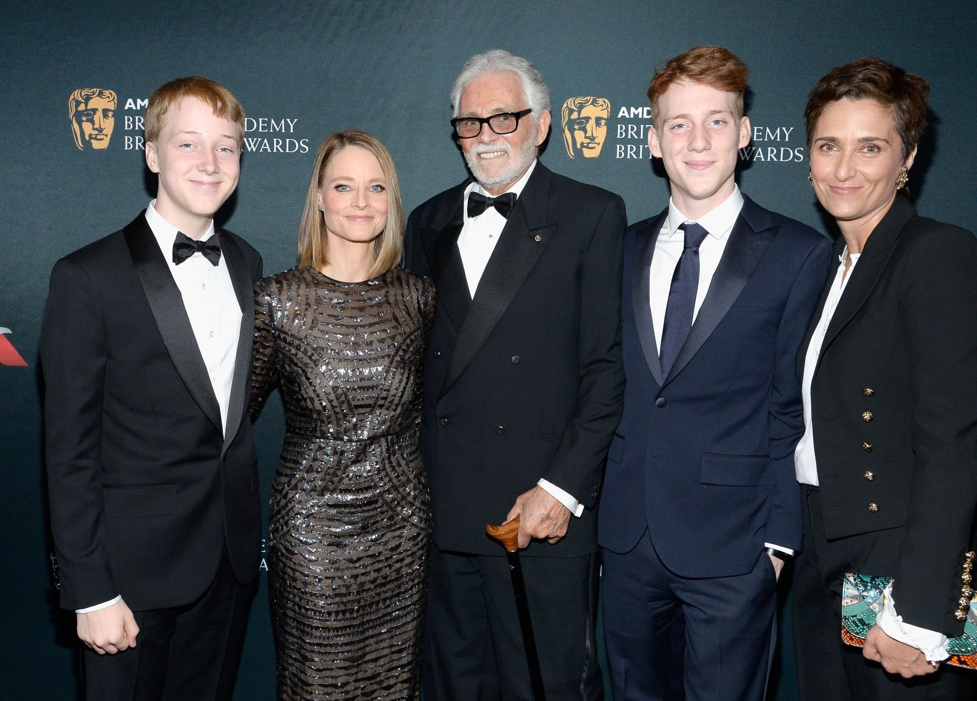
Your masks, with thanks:
[{"label": "white dress shirt of the young man wearing a bow tie", "polygon": [[[241,309],[234,294],[231,274],[228,272],[227,258],[221,254],[217,265],[211,264],[196,252],[180,265],[173,262],[173,242],[178,229],[156,211],[156,200],[146,208],[146,221],[166,259],[170,274],[183,296],[187,316],[190,317],[196,346],[203,357],[203,363],[210,377],[210,386],[217,397],[221,409],[222,430],[228,425],[228,405],[231,401],[231,383],[234,380],[234,358],[237,354],[237,337],[241,328]],[[201,237],[206,241],[214,235],[214,222]],[[75,613],[91,613],[107,608],[121,600],[116,596],[88,608],[77,609]]]}]

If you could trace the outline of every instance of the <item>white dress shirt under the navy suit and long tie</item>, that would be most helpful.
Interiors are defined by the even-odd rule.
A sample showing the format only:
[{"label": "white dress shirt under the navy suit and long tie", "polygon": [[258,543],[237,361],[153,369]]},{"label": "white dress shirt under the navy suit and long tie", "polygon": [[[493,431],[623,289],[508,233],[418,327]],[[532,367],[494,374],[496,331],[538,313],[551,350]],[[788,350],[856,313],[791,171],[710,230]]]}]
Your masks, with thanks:
[{"label": "white dress shirt under the navy suit and long tie", "polygon": [[[665,325],[665,310],[668,308],[668,293],[671,291],[671,279],[675,273],[682,251],[685,250],[685,233],[681,227],[688,223],[699,224],[709,233],[699,246],[699,288],[696,290],[696,305],[692,312],[692,321],[696,322],[699,309],[705,294],[709,291],[712,276],[716,274],[719,261],[726,250],[730,232],[740,217],[743,209],[743,194],[738,185],[733,186],[733,192],[721,203],[703,214],[699,219],[690,219],[683,214],[674,199],[668,200],[668,216],[665,217],[655,241],[655,255],[652,256],[652,268],[649,276],[648,296],[652,306],[652,325],[655,328],[655,342],[658,352],[661,352],[661,331]],[[783,548],[772,543],[764,543],[765,548],[781,550],[787,555],[793,555],[790,548]]]}]

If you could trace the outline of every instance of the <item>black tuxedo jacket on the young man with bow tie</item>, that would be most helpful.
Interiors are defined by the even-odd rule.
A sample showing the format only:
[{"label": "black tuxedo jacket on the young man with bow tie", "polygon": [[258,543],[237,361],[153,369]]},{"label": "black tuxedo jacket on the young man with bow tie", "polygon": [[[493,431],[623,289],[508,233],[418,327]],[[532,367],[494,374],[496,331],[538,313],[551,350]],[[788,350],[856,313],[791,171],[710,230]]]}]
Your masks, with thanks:
[{"label": "black tuxedo jacket on the young man with bow tie", "polygon": [[55,265],[44,323],[46,452],[61,604],[191,602],[227,544],[258,572],[261,504],[245,411],[261,256],[221,231],[243,314],[226,437],[183,298],[144,213]]}]

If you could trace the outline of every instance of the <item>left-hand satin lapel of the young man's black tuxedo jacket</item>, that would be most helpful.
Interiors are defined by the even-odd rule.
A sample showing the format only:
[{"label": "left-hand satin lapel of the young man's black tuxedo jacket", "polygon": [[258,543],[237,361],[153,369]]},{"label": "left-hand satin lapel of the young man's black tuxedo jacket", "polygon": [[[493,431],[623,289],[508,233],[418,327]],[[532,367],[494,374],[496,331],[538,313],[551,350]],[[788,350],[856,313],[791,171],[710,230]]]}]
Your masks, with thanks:
[{"label": "left-hand satin lapel of the young man's black tuxedo jacket", "polygon": [[140,215],[123,230],[123,236],[173,366],[200,410],[218,431],[223,431],[221,409],[214,396],[203,356],[196,345],[183,296],[170,275],[166,259],[152,236],[146,217]]}]

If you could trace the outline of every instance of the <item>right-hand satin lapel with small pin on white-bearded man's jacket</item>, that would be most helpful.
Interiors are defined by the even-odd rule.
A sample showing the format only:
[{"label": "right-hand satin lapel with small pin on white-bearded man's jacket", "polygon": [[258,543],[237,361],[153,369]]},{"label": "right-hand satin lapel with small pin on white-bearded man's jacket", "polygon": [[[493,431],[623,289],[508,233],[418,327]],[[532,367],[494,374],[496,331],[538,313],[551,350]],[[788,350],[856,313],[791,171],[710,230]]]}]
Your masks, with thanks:
[{"label": "right-hand satin lapel with small pin on white-bearded man's jacket", "polygon": [[552,173],[541,163],[536,163],[523,194],[509,213],[505,228],[488,258],[465,323],[458,331],[458,342],[441,388],[442,397],[485,345],[492,329],[556,233],[556,224],[545,223],[551,179]]}]

